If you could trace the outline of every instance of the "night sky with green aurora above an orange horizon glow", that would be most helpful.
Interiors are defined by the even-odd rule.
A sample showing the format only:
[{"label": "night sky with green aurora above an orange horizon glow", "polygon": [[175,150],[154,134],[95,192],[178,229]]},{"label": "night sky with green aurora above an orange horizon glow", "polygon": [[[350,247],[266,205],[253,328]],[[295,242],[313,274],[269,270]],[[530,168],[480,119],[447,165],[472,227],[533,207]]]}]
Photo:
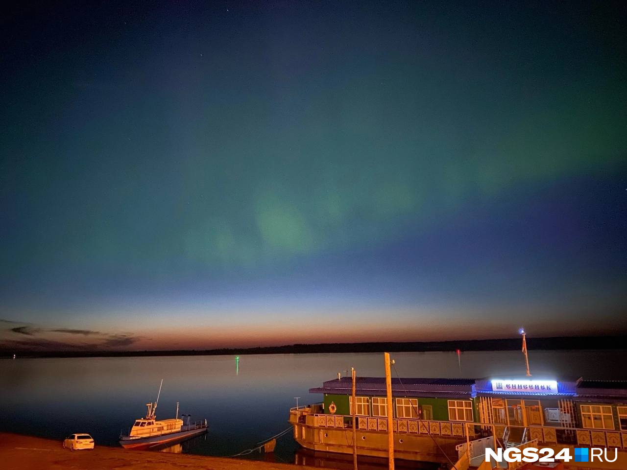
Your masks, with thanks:
[{"label": "night sky with green aurora above an orange horizon glow", "polygon": [[0,346],[627,333],[621,2],[20,3]]}]

